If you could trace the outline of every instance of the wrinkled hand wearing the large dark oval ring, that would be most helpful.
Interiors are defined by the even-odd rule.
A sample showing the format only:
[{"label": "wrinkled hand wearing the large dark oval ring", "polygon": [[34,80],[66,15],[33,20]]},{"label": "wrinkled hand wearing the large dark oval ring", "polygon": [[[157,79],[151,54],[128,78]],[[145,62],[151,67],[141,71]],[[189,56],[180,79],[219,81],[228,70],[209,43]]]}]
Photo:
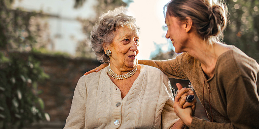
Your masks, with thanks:
[{"label": "wrinkled hand wearing the large dark oval ring", "polygon": [[191,107],[192,111],[193,111],[193,115],[194,116],[194,111],[196,108],[196,99],[194,98],[194,100],[192,102],[186,102],[185,98],[187,95],[194,95],[194,92],[191,90],[191,88],[183,88],[182,85],[180,83],[176,83],[176,86],[178,88],[178,93],[177,96],[175,97],[174,101],[179,101],[179,107],[182,109],[185,109],[187,107]]}]

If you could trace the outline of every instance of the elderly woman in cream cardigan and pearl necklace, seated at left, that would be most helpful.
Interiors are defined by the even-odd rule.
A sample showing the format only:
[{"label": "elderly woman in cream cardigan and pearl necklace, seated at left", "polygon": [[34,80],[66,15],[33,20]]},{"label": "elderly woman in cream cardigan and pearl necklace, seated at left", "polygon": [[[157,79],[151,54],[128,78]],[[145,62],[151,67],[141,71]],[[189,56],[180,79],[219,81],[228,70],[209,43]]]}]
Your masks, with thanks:
[{"label": "elderly woman in cream cardigan and pearl necklace, seated at left", "polygon": [[167,76],[157,68],[137,65],[135,22],[122,7],[96,22],[91,46],[97,59],[109,66],[79,79],[64,129],[184,126],[177,122]]}]

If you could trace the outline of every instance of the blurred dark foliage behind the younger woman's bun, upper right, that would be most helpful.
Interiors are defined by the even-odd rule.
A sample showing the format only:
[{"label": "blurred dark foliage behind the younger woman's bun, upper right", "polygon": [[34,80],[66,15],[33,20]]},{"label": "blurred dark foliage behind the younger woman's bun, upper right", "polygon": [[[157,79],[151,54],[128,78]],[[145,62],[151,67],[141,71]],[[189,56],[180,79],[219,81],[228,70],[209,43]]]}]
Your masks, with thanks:
[{"label": "blurred dark foliage behind the younger woman's bun, upper right", "polygon": [[259,0],[225,0],[230,25],[224,32],[224,42],[235,45],[259,62]]}]

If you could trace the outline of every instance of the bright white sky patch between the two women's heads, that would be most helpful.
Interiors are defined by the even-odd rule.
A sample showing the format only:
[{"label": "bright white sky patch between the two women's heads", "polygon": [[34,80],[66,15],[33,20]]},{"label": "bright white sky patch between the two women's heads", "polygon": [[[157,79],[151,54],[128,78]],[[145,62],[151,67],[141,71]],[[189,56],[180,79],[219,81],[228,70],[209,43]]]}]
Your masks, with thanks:
[{"label": "bright white sky patch between the two women's heads", "polygon": [[138,59],[150,58],[150,53],[156,50],[154,42],[164,44],[162,49],[167,51],[166,31],[162,29],[165,25],[163,7],[167,2],[169,0],[134,0],[130,4],[128,9],[136,18],[141,31]]}]

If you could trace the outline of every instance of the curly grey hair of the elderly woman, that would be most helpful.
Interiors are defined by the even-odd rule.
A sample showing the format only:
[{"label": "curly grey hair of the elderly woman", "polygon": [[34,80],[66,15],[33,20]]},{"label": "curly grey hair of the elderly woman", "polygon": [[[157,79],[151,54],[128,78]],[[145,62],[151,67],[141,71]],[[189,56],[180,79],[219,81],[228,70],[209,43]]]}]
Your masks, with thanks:
[{"label": "curly grey hair of the elderly woman", "polygon": [[95,53],[98,61],[109,63],[110,58],[107,56],[103,49],[103,43],[108,46],[112,43],[116,34],[116,31],[120,27],[125,25],[129,26],[133,30],[139,32],[139,27],[136,26],[136,19],[127,15],[128,10],[123,7],[116,8],[115,10],[109,10],[107,13],[100,17],[100,20],[95,22],[93,30],[91,31],[91,47]]}]

